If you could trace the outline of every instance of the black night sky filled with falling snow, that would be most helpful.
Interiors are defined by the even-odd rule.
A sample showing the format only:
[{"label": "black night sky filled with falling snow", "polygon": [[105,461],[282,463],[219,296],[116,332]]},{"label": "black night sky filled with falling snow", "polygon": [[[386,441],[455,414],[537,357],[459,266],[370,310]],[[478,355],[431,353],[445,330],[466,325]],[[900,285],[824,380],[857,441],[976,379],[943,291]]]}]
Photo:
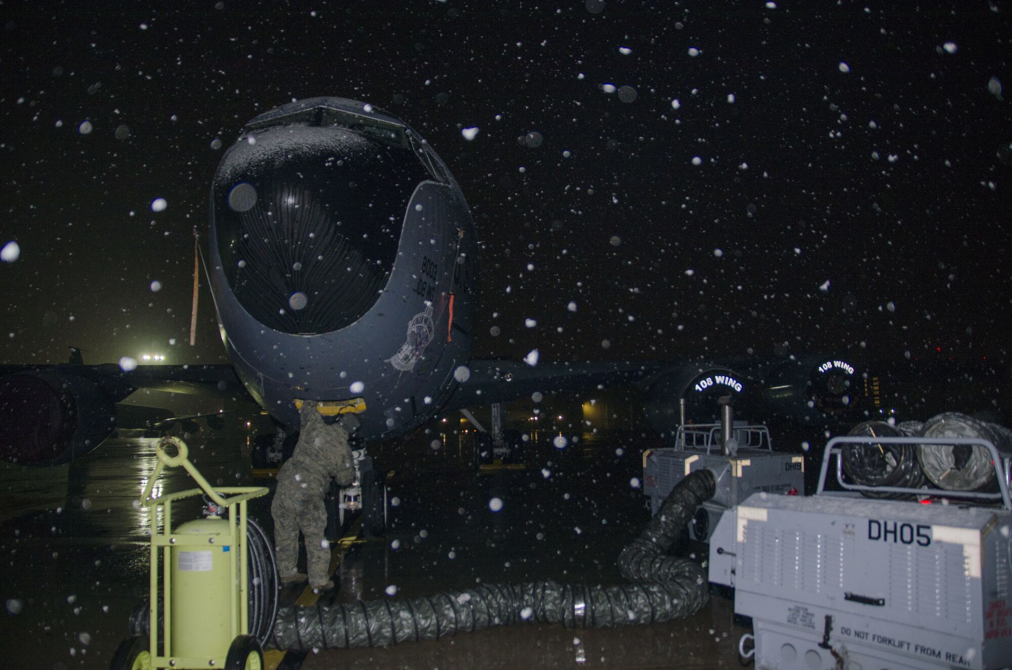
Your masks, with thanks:
[{"label": "black night sky filled with falling snow", "polygon": [[476,356],[1001,356],[1010,15],[5,1],[0,245],[20,257],[0,263],[0,362],[226,362],[202,279],[188,345],[191,231],[242,124],[317,95],[402,117],[460,183],[485,249]]}]

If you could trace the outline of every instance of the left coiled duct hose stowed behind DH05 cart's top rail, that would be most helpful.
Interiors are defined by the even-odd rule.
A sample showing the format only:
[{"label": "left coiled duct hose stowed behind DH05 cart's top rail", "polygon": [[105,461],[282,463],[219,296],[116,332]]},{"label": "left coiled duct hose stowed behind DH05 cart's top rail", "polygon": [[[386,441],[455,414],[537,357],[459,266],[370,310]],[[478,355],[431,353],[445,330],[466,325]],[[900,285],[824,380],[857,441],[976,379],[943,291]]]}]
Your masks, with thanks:
[{"label": "left coiled duct hose stowed behind DH05 cart's top rail", "polygon": [[[884,421],[865,421],[851,428],[848,435],[861,437],[916,437],[921,424],[905,421],[892,426]],[[848,445],[843,449],[843,472],[854,484],[861,486],[895,486],[919,489],[924,486],[924,473],[917,462],[914,444]],[[905,499],[902,493],[861,491],[868,498]]]}]

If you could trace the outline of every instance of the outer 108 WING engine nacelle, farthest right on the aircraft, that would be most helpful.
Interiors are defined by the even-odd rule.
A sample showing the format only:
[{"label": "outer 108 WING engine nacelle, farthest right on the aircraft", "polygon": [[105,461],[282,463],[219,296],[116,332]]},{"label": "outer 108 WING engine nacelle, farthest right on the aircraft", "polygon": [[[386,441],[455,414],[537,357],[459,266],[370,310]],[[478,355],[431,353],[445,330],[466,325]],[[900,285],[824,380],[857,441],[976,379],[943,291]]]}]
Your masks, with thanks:
[{"label": "outer 108 WING engine nacelle, farthest right on the aircraft", "polygon": [[765,419],[796,425],[867,419],[871,384],[866,367],[845,356],[798,356],[764,366],[757,401]]}]

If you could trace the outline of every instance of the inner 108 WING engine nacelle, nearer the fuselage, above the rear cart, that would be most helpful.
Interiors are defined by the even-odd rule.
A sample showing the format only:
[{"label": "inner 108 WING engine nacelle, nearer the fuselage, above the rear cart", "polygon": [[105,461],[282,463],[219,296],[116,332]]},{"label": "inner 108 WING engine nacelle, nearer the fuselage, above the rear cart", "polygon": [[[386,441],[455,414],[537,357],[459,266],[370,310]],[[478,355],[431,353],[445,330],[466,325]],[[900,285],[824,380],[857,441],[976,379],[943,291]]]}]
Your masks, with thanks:
[{"label": "inner 108 WING engine nacelle, nearer the fuselage, above the rear cart", "polygon": [[732,397],[736,415],[745,410],[748,387],[741,375],[724,365],[689,363],[657,378],[647,392],[644,411],[658,433],[665,439],[673,439],[683,419],[694,424],[719,422],[718,400],[722,396]]}]

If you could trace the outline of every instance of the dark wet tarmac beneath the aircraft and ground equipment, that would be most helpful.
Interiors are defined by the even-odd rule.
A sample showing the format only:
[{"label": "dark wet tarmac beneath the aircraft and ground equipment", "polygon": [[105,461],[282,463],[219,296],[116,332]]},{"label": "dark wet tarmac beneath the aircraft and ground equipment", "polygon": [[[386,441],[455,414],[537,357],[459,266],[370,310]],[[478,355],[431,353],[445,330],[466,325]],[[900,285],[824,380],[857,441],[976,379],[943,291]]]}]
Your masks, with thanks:
[{"label": "dark wet tarmac beneath the aircraft and ground equipment", "polygon": [[[383,538],[345,548],[339,588],[321,599],[384,598],[391,586],[398,597],[414,597],[480,582],[621,582],[615,559],[650,518],[630,482],[642,477],[642,450],[655,445],[640,434],[609,434],[557,449],[554,436],[533,435],[524,468],[477,475],[470,435],[419,434],[370,449],[391,472],[390,528]],[[107,667],[128,635],[131,609],[147,597],[148,519],[138,498],[155,466],[156,441],[123,431],[69,466],[0,466],[0,668]],[[201,432],[187,441],[210,482],[272,484],[253,479],[248,433]],[[170,470],[160,486],[176,491],[191,482]],[[501,509],[493,511],[496,499]],[[198,505],[175,518],[195,517]],[[269,531],[269,499],[252,504],[251,516]],[[713,597],[698,614],[670,623],[521,624],[390,648],[321,650],[302,667],[737,668],[745,630],[732,610],[729,600]]]}]

